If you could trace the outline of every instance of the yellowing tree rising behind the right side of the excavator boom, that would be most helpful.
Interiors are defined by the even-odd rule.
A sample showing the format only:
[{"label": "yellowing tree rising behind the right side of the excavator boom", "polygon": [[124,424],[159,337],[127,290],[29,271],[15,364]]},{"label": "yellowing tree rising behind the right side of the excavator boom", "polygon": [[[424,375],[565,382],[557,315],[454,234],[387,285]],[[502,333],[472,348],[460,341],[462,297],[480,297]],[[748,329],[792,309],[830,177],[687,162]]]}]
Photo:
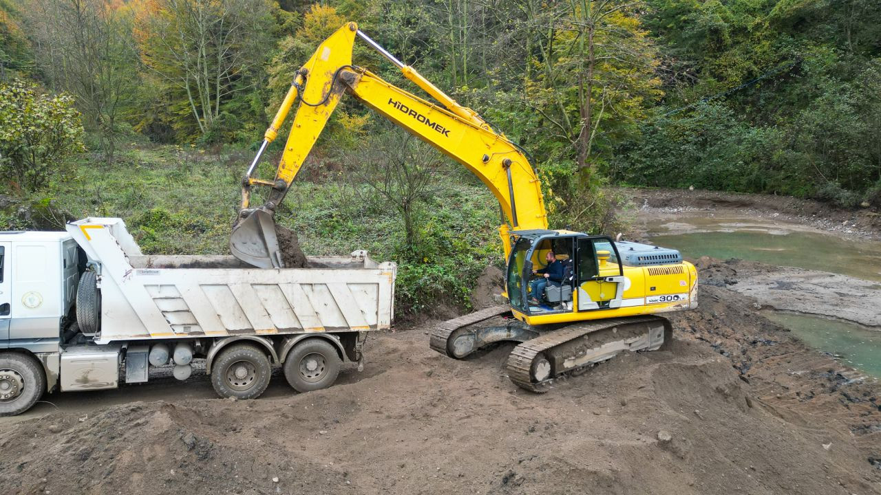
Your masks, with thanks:
[{"label": "yellowing tree rising behind the right side of the excavator boom", "polygon": [[662,94],[654,48],[635,9],[633,3],[572,0],[565,17],[551,26],[540,83],[527,85],[527,96],[534,97],[530,105],[552,124],[554,135],[574,147],[585,186],[597,138],[625,137]]}]

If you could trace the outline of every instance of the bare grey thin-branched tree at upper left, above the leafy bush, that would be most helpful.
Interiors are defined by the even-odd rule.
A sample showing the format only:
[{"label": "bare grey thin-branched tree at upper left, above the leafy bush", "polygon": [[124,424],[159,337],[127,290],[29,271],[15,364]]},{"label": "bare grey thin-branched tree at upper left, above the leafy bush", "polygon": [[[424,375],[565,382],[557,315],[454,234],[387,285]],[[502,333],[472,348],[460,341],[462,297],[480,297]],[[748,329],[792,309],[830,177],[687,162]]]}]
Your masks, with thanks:
[{"label": "bare grey thin-branched tree at upper left, above the leafy bush", "polygon": [[108,0],[31,0],[28,7],[42,73],[53,89],[75,97],[109,163],[122,132],[122,107],[137,88],[129,12]]}]

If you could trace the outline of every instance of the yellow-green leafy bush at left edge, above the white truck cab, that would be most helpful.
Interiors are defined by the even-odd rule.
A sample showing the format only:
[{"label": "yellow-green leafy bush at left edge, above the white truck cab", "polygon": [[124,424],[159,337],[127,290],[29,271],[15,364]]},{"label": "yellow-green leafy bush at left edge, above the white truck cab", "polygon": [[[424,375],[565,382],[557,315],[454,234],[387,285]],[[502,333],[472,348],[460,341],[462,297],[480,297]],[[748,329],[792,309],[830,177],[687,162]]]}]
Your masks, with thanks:
[{"label": "yellow-green leafy bush at left edge, above the white truck cab", "polygon": [[31,192],[73,174],[67,160],[83,150],[83,124],[73,99],[23,81],[0,84],[0,172],[12,188]]}]

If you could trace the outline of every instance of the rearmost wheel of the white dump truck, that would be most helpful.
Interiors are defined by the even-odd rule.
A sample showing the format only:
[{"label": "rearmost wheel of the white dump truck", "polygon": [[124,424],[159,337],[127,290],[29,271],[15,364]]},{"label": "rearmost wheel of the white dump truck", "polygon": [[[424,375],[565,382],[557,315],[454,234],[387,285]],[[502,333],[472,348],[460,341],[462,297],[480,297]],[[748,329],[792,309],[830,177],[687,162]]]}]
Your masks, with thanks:
[{"label": "rearmost wheel of the white dump truck", "polygon": [[342,364],[332,344],[324,339],[308,338],[288,352],[285,378],[298,392],[328,388],[337,380]]}]

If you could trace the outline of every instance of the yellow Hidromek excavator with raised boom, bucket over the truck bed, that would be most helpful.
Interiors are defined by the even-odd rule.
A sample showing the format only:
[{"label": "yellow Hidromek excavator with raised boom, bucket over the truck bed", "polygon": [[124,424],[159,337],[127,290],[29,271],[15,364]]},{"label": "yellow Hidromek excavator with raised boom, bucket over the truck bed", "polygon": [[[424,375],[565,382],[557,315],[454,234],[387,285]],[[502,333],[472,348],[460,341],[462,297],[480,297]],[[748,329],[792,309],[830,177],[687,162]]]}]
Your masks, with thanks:
[{"label": "yellow Hidromek excavator with raised boom, bucket over the truck bed", "polygon": [[[395,64],[432,100],[352,65],[356,38]],[[230,238],[233,255],[243,262],[262,268],[284,266],[274,212],[344,93],[461,163],[501,205],[505,218],[499,233],[507,261],[503,296],[509,304],[441,323],[431,335],[435,351],[464,358],[495,342],[520,343],[507,360],[508,376],[522,388],[544,392],[554,380],[583,373],[618,352],[659,349],[670,339],[671,326],[655,314],[697,307],[697,271],[676,250],[549,230],[541,184],[521,147],[397,60],[353,22],[330,35],[296,72],[248,167]],[[294,104],[298,107],[275,180],[253,177]],[[255,186],[269,188],[259,207],[250,205]],[[530,284],[530,278],[541,279],[541,272],[551,271],[550,281]]]}]

